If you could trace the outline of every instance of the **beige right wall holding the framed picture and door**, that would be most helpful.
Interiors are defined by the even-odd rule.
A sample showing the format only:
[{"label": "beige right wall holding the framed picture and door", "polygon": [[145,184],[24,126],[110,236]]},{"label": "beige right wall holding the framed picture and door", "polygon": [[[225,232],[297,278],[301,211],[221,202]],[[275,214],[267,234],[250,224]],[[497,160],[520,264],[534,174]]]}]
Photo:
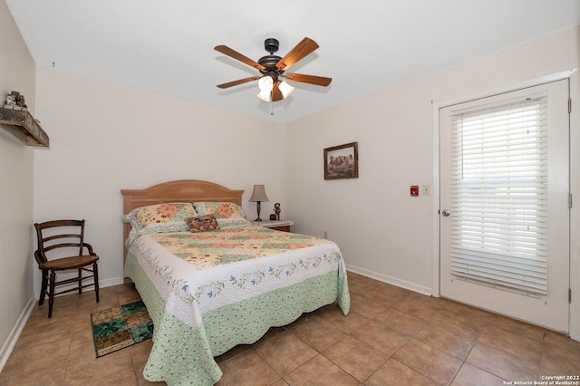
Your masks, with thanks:
[{"label": "beige right wall holding the framed picture and door", "polygon": [[[295,230],[317,236],[326,231],[341,246],[349,269],[425,294],[437,293],[435,106],[578,67],[580,26],[288,124],[285,194]],[[576,197],[579,78],[575,72],[571,174]],[[358,141],[360,178],[325,181],[323,149],[352,141]],[[411,185],[426,184],[432,188],[430,196],[410,197]],[[580,205],[572,208],[571,231],[571,332],[580,339]]]}]

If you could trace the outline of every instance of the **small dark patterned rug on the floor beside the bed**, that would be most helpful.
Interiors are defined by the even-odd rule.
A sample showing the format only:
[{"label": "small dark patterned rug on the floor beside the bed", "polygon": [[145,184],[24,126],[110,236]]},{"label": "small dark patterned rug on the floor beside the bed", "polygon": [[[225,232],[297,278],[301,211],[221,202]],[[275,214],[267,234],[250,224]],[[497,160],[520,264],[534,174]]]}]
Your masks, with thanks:
[{"label": "small dark patterned rug on the floor beside the bed", "polygon": [[142,301],[91,314],[97,358],[153,336],[153,322]]}]

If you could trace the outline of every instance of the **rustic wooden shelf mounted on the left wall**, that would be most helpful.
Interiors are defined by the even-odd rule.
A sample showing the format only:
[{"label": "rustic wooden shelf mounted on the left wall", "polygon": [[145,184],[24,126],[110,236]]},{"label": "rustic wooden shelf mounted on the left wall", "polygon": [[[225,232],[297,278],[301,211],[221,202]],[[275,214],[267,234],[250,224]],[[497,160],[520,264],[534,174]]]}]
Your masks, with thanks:
[{"label": "rustic wooden shelf mounted on the left wall", "polygon": [[0,107],[0,127],[10,131],[27,146],[48,148],[48,134],[34,120],[28,110],[15,110]]}]

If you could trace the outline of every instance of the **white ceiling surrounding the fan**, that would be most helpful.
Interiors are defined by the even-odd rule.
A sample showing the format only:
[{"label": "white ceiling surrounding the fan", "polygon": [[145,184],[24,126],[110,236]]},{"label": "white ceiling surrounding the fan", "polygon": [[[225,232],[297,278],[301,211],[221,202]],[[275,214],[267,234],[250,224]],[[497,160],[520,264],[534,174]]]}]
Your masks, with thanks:
[{"label": "white ceiling surrounding the fan", "polygon": [[[39,66],[279,122],[580,24],[580,0],[5,1]],[[289,82],[274,104],[257,82],[216,87],[259,73],[214,46],[257,61],[266,38],[284,56],[305,36],[320,48],[289,72],[330,86]]]}]

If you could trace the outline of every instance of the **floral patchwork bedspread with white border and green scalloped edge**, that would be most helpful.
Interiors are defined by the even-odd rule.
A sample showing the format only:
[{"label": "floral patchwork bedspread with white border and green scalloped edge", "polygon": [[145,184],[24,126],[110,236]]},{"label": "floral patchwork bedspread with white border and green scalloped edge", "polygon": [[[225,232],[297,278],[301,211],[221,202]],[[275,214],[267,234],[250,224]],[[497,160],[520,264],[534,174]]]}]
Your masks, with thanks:
[{"label": "floral patchwork bedspread with white border and green scalloped edge", "polygon": [[264,227],[140,236],[125,274],[155,325],[145,377],[169,385],[213,384],[214,356],[325,304],[350,308],[336,244]]}]

